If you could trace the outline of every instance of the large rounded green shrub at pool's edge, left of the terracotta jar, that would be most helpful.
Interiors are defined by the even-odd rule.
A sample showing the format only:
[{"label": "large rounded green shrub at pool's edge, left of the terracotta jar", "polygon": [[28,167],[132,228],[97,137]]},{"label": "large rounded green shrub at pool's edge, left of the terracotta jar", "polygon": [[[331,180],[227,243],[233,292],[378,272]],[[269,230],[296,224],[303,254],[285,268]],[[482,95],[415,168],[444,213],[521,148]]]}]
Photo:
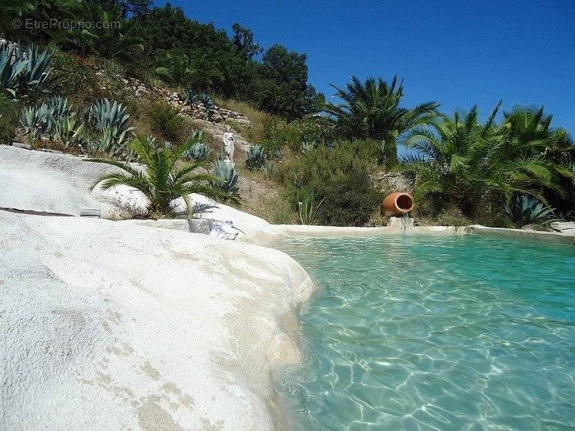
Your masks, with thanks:
[{"label": "large rounded green shrub at pool's edge, left of the terracotta jar", "polygon": [[314,200],[322,202],[317,223],[365,225],[383,198],[372,183],[374,163],[363,156],[366,147],[365,141],[320,146],[286,163],[280,179],[292,208],[299,210],[302,196],[313,192]]}]

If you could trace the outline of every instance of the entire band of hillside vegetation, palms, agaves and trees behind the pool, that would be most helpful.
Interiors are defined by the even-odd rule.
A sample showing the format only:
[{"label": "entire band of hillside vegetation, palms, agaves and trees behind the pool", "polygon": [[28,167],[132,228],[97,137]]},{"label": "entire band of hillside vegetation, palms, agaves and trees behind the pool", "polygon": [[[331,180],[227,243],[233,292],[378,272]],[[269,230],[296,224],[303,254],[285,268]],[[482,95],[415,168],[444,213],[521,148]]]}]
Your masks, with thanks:
[{"label": "entire band of hillside vegetation, palms, agaves and trees behind the pool", "polygon": [[[39,31],[15,19],[84,27]],[[228,35],[169,3],[3,1],[0,24],[4,38],[20,42],[0,46],[0,143],[25,138],[105,160],[126,172],[106,184],[137,184],[152,212],[169,213],[192,189],[235,202],[250,181],[268,197],[249,208],[278,222],[381,223],[382,192],[398,187],[412,188],[424,223],[575,219],[574,141],[543,107],[498,104],[485,122],[476,107],[451,115],[436,102],[405,107],[397,77],[352,77],[334,86],[340,101],[326,103],[308,82],[305,54],[259,46],[240,24]],[[199,133],[201,120],[170,98],[136,95],[129,78],[184,95],[206,121],[217,105],[245,113],[250,125],[226,121],[252,144],[245,158],[236,167],[219,161],[221,143]],[[409,149],[399,158],[398,143]]]}]

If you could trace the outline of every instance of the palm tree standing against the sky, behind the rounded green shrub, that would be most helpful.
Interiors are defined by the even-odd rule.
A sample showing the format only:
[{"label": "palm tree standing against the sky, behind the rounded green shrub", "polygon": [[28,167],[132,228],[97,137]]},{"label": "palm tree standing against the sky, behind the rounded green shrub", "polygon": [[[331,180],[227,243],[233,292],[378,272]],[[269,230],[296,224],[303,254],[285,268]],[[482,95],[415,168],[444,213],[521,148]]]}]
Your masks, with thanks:
[{"label": "palm tree standing against the sky, behind the rounded green shrub", "polygon": [[336,89],[342,103],[327,102],[325,111],[336,121],[335,131],[341,138],[382,140],[388,161],[397,158],[396,140],[413,127],[426,125],[436,115],[439,104],[426,102],[412,109],[399,107],[403,98],[403,80],[394,77],[391,84],[381,78],[367,78],[365,83],[352,76],[346,89]]}]

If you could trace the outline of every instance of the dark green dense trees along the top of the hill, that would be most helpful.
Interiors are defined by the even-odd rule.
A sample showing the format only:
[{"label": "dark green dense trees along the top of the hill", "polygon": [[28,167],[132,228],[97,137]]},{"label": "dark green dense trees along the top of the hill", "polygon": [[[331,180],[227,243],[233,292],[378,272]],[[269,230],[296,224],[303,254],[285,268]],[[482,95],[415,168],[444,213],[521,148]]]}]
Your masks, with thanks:
[{"label": "dark green dense trees along the top of the hill", "polygon": [[[321,109],[323,96],[307,82],[306,55],[273,45],[260,60],[262,48],[252,31],[239,24],[232,26],[229,37],[213,24],[189,19],[170,3],[152,8],[145,0],[8,3],[0,11],[7,39],[54,44],[82,57],[116,59],[147,80],[248,100],[286,120]],[[84,28],[51,26],[39,32],[26,25],[15,28],[14,19],[77,22]]]}]

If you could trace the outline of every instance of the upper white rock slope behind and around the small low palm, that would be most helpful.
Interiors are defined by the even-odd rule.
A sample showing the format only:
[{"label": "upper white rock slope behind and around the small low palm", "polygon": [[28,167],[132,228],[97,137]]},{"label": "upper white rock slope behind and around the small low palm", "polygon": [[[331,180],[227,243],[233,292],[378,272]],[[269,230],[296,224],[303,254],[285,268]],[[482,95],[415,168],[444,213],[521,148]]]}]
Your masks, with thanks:
[{"label": "upper white rock slope behind and around the small low palm", "polygon": [[[78,215],[81,208],[98,208],[102,217],[121,219],[127,212],[145,212],[146,198],[138,190],[117,186],[102,192],[90,186],[95,178],[109,172],[111,167],[90,163],[68,154],[51,154],[0,145],[0,207],[19,208]],[[231,220],[241,230],[238,239],[256,240],[258,237],[279,235],[267,221],[228,205],[192,194],[193,202],[215,205],[202,217]],[[118,208],[124,208],[127,212]],[[183,210],[183,200],[179,207]],[[131,221],[148,226],[172,225],[187,230],[187,221]]]}]

